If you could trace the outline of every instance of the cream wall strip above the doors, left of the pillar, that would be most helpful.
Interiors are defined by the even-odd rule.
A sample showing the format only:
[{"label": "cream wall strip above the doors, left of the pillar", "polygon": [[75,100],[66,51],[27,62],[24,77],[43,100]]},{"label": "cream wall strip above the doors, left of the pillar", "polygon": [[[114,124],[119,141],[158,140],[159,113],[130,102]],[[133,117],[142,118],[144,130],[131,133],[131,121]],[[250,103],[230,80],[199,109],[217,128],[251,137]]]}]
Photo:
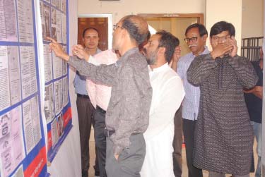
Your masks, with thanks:
[{"label": "cream wall strip above the doors, left of the pillar", "polygon": [[78,0],[78,14],[112,13],[113,22],[138,13],[204,13],[206,0]]}]

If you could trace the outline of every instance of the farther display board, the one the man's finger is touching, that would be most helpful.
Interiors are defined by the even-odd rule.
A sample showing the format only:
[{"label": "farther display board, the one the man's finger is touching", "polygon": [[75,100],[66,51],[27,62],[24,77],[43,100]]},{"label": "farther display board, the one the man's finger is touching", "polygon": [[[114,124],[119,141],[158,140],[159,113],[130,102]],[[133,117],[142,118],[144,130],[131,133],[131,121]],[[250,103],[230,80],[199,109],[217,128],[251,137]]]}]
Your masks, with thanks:
[{"label": "farther display board, the one the man's finger is touching", "polygon": [[42,39],[45,70],[45,117],[47,121],[48,161],[52,162],[71,129],[68,65],[49,50],[52,37],[67,51],[67,1],[40,0]]}]

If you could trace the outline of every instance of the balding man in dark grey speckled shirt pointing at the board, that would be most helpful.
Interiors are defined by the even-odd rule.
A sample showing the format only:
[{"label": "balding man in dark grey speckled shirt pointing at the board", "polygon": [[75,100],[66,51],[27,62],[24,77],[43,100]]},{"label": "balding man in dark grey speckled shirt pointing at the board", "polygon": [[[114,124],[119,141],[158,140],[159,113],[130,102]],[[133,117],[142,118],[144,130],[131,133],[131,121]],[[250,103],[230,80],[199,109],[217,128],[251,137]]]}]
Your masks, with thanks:
[{"label": "balding man in dark grey speckled shirt pointing at the board", "polygon": [[[152,88],[146,58],[138,46],[148,35],[148,25],[139,16],[125,16],[114,25],[112,47],[121,58],[112,65],[94,66],[83,59],[83,49],[73,47],[69,56],[54,41],[51,49],[69,62],[81,75],[95,83],[112,87],[106,113],[107,155],[106,171],[109,177],[140,176],[146,145],[143,133],[148,127]],[[50,39],[50,38],[49,38]]]}]

